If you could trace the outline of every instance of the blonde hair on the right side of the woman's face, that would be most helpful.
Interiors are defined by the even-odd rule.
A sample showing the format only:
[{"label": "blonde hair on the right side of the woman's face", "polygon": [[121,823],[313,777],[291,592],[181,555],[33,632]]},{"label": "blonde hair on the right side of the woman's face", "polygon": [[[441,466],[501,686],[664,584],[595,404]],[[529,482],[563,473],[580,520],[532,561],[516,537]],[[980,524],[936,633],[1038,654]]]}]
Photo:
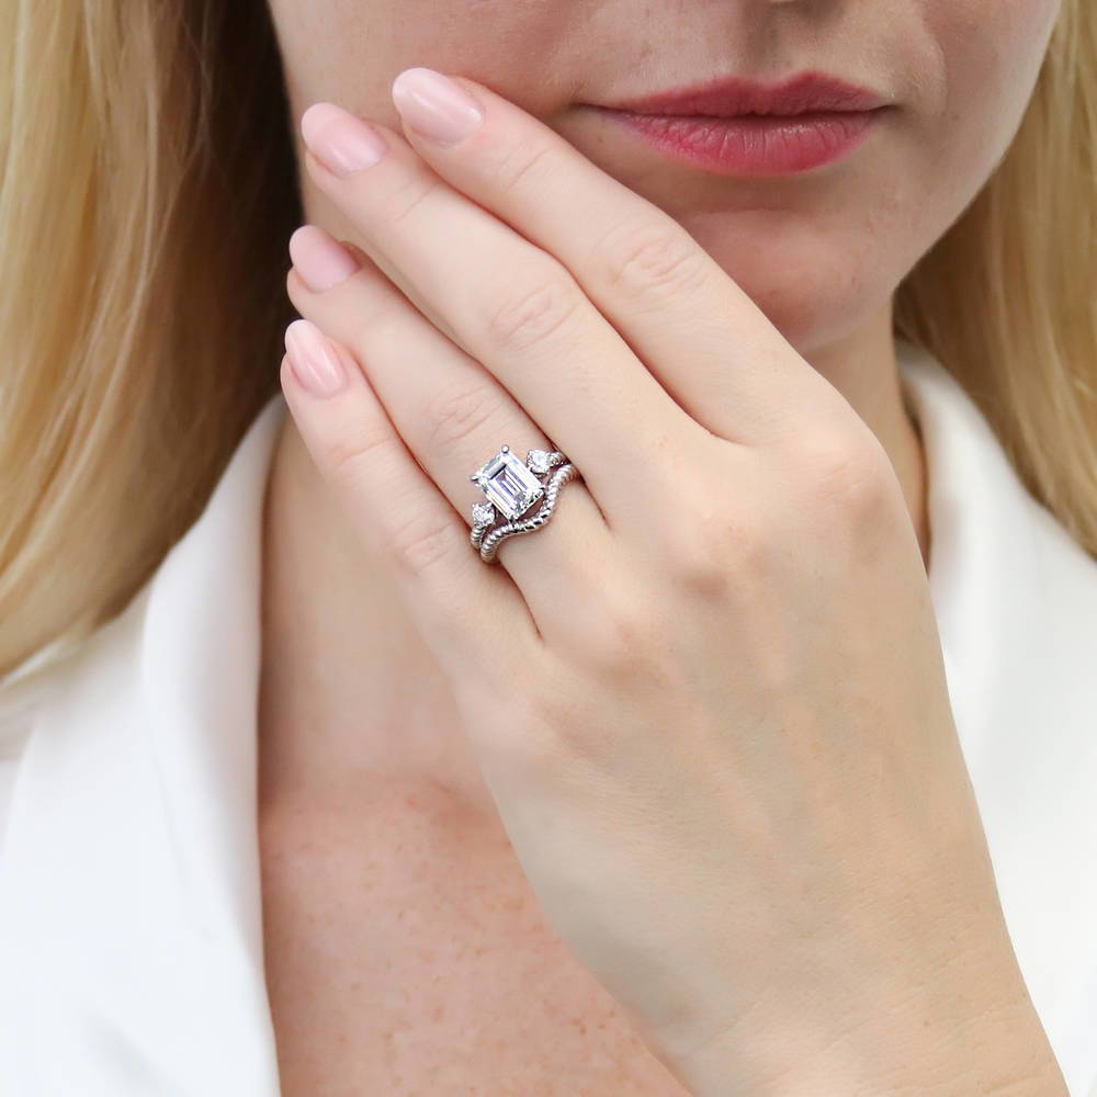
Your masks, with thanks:
[{"label": "blonde hair on the right side of the woman's face", "polygon": [[1097,556],[1097,8],[1064,0],[1002,163],[895,295],[1031,494]]}]

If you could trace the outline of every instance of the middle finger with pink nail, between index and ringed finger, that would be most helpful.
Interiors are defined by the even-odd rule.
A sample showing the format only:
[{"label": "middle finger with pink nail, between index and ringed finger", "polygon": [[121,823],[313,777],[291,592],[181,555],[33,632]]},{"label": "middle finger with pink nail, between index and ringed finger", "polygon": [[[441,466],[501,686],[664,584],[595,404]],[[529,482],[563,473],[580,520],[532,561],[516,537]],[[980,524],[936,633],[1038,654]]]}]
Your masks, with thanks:
[{"label": "middle finger with pink nail, between index and ringed finger", "polygon": [[[575,462],[611,527],[636,518],[652,476],[670,478],[666,454],[703,429],[570,272],[451,188],[391,129],[317,103],[302,132],[310,176],[377,264],[426,315],[437,312]],[[370,140],[378,159],[348,158]]]}]

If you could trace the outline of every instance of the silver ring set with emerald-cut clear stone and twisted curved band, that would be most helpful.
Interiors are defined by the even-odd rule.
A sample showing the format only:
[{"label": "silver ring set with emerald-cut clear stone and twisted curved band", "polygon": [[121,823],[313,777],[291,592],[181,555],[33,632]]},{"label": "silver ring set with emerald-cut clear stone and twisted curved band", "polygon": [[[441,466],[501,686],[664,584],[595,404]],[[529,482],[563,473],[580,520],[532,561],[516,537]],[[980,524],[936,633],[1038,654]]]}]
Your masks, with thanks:
[{"label": "silver ring set with emerald-cut clear stone and twisted curved band", "polygon": [[[541,529],[556,509],[559,489],[576,476],[578,470],[559,450],[530,450],[523,464],[504,445],[468,477],[487,497],[486,502],[473,504],[471,540],[480,559],[490,564],[507,538]],[[523,518],[539,501],[536,513]],[[493,528],[500,517],[502,523]]]}]

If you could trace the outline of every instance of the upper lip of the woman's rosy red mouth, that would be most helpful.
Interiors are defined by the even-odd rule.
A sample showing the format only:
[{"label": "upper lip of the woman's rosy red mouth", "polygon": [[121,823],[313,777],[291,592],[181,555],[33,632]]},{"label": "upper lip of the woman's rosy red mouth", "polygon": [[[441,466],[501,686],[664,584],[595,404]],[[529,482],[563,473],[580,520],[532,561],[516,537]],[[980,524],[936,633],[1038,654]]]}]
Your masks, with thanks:
[{"label": "upper lip of the woman's rosy red mouth", "polygon": [[813,111],[871,111],[889,105],[886,97],[825,72],[798,72],[765,82],[744,77],[717,77],[687,88],[660,91],[626,102],[607,104],[636,114],[711,115],[804,114]]}]

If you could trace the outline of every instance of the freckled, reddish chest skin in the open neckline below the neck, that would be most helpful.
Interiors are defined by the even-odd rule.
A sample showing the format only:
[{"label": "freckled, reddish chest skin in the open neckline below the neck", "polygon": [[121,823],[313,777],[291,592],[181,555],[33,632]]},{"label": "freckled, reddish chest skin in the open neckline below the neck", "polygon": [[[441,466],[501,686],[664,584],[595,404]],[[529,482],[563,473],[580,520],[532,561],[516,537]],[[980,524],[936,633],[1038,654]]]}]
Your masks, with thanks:
[{"label": "freckled, reddish chest skin in the open neckline below the neck", "polygon": [[260,815],[282,1097],[681,1097],[441,788]]}]

